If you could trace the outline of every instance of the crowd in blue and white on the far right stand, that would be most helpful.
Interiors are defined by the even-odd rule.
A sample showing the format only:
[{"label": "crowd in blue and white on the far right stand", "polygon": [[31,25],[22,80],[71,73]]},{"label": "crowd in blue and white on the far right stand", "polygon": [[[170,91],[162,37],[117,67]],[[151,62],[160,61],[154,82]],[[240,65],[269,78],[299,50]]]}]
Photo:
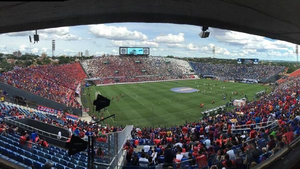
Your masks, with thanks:
[{"label": "crowd in blue and white on the far right stand", "polygon": [[284,69],[283,66],[260,64],[212,64],[193,61],[189,63],[196,73],[226,80],[265,80]]}]

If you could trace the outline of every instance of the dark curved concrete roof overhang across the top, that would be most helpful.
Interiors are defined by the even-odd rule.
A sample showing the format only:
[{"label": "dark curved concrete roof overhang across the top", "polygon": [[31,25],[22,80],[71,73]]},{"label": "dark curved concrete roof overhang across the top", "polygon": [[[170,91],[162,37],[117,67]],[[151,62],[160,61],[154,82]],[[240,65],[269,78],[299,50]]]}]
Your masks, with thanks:
[{"label": "dark curved concrete roof overhang across the top", "polygon": [[298,0],[6,1],[0,2],[0,33],[94,23],[161,22],[206,25],[300,44],[299,9]]}]

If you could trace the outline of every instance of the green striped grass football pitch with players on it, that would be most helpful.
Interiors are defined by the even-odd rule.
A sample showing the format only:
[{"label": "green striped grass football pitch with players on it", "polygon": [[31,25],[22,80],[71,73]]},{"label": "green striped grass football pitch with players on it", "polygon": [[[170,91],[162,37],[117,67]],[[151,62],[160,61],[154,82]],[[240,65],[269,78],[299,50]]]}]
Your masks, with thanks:
[{"label": "green striped grass football pitch with players on it", "polygon": [[[204,85],[205,83],[205,85]],[[212,88],[211,90],[208,89]],[[216,85],[215,85],[216,84]],[[190,87],[197,88],[199,92],[179,93],[171,91],[173,87]],[[213,85],[215,85],[213,87]],[[225,86],[224,89],[220,87]],[[104,117],[115,114],[115,118],[108,118],[104,123],[113,125],[133,124],[135,126],[170,126],[181,125],[187,121],[195,121],[201,117],[201,111],[226,104],[231,99],[242,98],[246,94],[248,100],[254,99],[255,92],[264,90],[268,87],[261,84],[245,84],[208,80],[179,80],[166,82],[136,83],[136,84],[116,84],[106,86],[89,86],[84,89],[81,95],[83,106],[90,108],[89,113],[93,111],[91,102],[95,99],[96,92],[110,99],[110,105],[104,112]],[[201,90],[206,90],[201,93]],[[211,91],[211,93],[209,93]],[[237,91],[237,95],[231,92]],[[86,96],[86,93],[90,93]],[[243,95],[240,93],[244,92]],[[222,93],[227,93],[225,100]],[[123,96],[119,96],[119,95]],[[119,97],[119,100],[116,99]],[[112,99],[113,97],[113,99]],[[86,100],[86,101],[84,101]],[[212,104],[211,101],[215,100]],[[204,107],[200,108],[200,103],[204,103]],[[94,111],[95,115],[98,112]],[[100,113],[101,114],[101,113]]]}]

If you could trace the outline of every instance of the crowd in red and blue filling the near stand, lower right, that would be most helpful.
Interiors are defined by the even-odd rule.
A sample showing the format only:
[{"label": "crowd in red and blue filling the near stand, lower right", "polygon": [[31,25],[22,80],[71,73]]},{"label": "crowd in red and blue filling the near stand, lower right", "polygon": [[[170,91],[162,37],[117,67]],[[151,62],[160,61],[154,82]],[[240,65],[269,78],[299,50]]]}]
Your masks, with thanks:
[{"label": "crowd in red and blue filling the near stand, lower right", "polygon": [[[290,76],[260,99],[220,115],[173,127],[133,128],[134,144],[148,140],[130,165],[197,164],[199,168],[247,168],[272,156],[300,135],[300,76]],[[167,145],[166,147],[162,145]],[[170,150],[168,150],[170,149]],[[144,159],[145,158],[145,159]],[[179,164],[178,164],[179,165]]]}]

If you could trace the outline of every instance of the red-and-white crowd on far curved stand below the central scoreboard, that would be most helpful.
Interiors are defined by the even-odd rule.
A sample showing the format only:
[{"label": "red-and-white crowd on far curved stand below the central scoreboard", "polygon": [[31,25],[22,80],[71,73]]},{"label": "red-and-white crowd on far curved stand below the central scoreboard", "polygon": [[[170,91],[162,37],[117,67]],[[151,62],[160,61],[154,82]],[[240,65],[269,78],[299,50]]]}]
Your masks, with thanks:
[{"label": "red-and-white crowd on far curved stand below the central scoreboard", "polygon": [[190,66],[183,60],[154,56],[101,56],[82,61],[96,84],[189,78]]}]

